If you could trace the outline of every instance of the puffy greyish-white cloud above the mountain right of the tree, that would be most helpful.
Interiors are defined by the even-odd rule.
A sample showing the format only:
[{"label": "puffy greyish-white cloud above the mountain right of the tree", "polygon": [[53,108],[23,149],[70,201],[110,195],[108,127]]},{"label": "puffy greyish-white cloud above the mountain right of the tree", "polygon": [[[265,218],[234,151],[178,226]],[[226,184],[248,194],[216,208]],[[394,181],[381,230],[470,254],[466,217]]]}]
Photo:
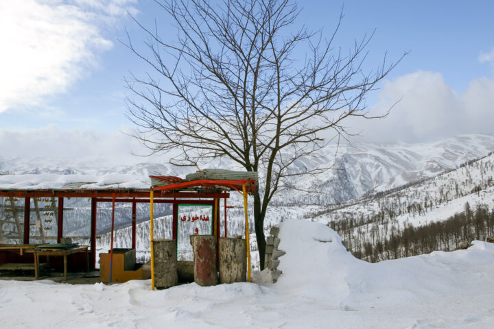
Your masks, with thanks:
[{"label": "puffy greyish-white cloud above the mountain right of the tree", "polygon": [[420,142],[458,134],[494,133],[494,80],[471,81],[458,95],[440,73],[418,71],[386,82],[371,113],[383,113],[397,100],[388,117],[355,120],[357,141]]}]

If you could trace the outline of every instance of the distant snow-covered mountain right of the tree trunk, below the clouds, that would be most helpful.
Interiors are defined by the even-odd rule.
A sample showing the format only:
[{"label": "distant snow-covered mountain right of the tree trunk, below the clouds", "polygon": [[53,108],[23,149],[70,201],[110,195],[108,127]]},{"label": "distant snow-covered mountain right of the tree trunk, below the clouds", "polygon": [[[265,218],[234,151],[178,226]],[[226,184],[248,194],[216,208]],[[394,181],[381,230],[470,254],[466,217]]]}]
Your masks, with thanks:
[{"label": "distant snow-covered mountain right of the tree trunk, below the clouds", "polygon": [[[472,134],[422,144],[342,145],[322,150],[309,168],[330,168],[307,176],[298,186],[314,193],[281,191],[277,204],[339,204],[366,193],[386,191],[430,178],[494,151],[494,136]],[[300,164],[299,164],[300,165]],[[295,170],[295,169],[294,169]]]}]

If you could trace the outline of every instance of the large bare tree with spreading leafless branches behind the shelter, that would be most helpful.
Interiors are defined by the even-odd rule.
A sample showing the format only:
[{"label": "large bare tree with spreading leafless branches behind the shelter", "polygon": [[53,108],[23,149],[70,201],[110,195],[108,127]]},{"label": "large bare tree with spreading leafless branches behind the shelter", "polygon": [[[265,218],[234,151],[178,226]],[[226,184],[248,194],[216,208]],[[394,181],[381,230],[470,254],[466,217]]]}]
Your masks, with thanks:
[{"label": "large bare tree with spreading leafless branches behind the shelter", "polygon": [[314,173],[288,169],[328,143],[322,132],[332,130],[339,141],[349,136],[346,119],[370,118],[365,96],[395,64],[385,57],[364,73],[371,36],[348,52],[334,47],[342,15],[329,39],[305,27],[290,31],[298,9],[289,0],[156,2],[178,34],[167,42],[157,27],[136,21],[148,49],[139,51],[130,37],[126,45],[150,71],[126,78],[133,91],[128,117],[153,153],[180,150],[172,164],[229,158],[261,173],[253,198],[262,269],[270,200],[287,176]]}]

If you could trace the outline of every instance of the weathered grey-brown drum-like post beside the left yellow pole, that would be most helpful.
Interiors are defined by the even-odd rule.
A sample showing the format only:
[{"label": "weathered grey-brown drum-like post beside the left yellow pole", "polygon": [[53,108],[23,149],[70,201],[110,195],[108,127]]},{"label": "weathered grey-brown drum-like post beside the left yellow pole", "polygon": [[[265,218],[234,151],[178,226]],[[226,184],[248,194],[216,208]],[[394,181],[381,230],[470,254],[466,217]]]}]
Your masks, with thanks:
[{"label": "weathered grey-brown drum-like post beside the left yellow pole", "polygon": [[169,288],[178,284],[176,240],[154,239],[154,286]]}]

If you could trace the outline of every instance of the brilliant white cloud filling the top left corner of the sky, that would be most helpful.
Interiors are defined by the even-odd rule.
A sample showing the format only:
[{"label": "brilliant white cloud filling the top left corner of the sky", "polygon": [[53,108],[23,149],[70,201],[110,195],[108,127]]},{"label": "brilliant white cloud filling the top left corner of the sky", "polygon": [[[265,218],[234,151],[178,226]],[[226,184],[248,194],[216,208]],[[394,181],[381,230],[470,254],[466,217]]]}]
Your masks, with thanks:
[{"label": "brilliant white cloud filling the top left corner of the sky", "polygon": [[113,46],[103,31],[135,0],[2,0],[0,112],[62,93]]}]

